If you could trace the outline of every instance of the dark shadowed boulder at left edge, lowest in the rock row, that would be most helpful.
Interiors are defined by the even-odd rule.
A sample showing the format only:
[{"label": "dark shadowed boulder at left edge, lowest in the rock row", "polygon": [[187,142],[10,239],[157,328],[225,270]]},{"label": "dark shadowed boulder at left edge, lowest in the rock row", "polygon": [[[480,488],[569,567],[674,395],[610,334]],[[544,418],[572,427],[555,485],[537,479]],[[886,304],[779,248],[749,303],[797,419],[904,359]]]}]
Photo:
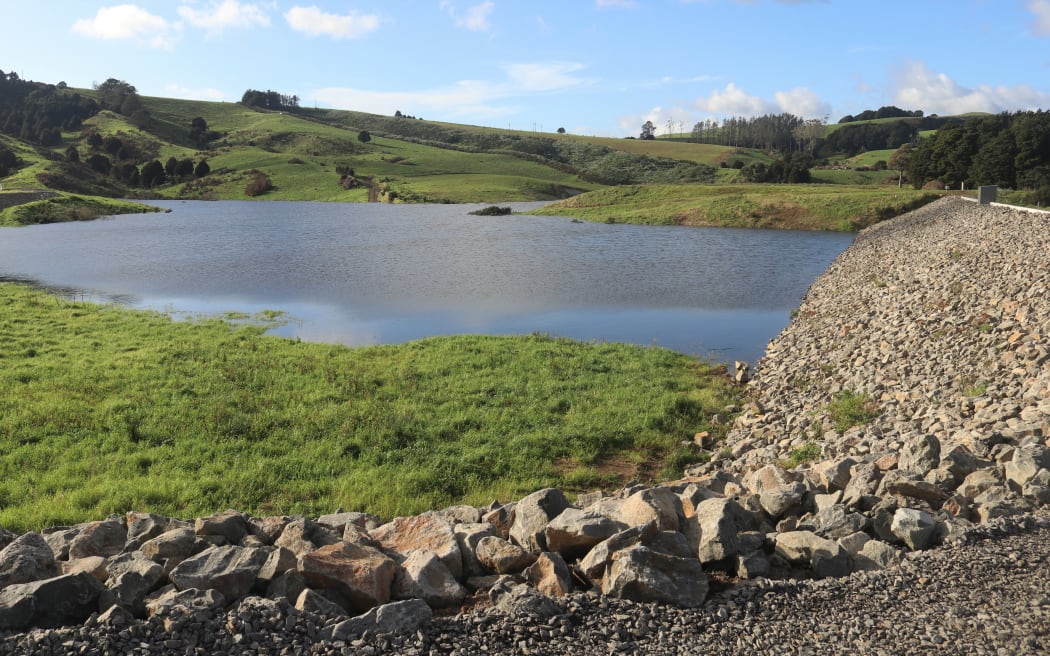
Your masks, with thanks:
[{"label": "dark shadowed boulder at left edge, lowest in the rock row", "polygon": [[0,590],[0,631],[81,623],[98,612],[103,590],[86,572],[7,586]]}]

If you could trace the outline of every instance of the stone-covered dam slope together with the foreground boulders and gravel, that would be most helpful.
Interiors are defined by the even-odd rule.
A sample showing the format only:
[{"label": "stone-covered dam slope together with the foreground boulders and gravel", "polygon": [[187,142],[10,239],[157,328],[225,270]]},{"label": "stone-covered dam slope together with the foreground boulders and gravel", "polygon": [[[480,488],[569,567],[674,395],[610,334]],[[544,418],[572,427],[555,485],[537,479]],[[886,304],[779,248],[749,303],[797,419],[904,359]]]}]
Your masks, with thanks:
[{"label": "stone-covered dam slope together with the foreground boulders and gravel", "polygon": [[[1000,530],[982,527],[1050,535],[1030,514],[1050,502],[1045,221],[944,199],[863,232],[771,343],[726,448],[680,481],[386,523],[130,512],[0,531],[0,653],[566,653],[572,636],[584,653],[693,653],[686,635],[810,649],[739,622],[798,591],[830,615],[899,590],[878,597],[892,606],[927,586],[923,550]],[[1044,585],[1047,551],[1010,552],[1010,604],[1027,604],[1021,573]],[[1046,647],[1036,592],[1025,619],[1042,633],[1003,643]],[[863,649],[874,626],[840,619]]]}]

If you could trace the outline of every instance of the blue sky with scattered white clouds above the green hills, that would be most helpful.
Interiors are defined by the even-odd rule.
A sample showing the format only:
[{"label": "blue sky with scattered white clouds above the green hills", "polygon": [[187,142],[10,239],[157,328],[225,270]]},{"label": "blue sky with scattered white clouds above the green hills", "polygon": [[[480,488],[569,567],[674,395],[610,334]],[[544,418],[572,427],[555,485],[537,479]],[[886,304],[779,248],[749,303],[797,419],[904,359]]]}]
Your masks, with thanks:
[{"label": "blue sky with scattered white clouds above the green hills", "polygon": [[1050,0],[0,0],[0,69],[146,96],[627,136],[1050,108]]}]

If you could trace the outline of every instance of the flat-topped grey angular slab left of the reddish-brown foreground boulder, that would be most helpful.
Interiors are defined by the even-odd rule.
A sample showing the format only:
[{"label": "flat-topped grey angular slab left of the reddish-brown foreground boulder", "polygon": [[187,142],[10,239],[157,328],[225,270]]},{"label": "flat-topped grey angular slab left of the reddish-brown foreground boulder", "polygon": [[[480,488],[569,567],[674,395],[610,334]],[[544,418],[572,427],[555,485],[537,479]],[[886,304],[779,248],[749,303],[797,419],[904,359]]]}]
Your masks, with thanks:
[{"label": "flat-topped grey angular slab left of the reddish-brown foreground boulder", "polygon": [[180,563],[169,577],[178,590],[217,590],[232,601],[251,592],[269,556],[268,548],[212,547]]}]

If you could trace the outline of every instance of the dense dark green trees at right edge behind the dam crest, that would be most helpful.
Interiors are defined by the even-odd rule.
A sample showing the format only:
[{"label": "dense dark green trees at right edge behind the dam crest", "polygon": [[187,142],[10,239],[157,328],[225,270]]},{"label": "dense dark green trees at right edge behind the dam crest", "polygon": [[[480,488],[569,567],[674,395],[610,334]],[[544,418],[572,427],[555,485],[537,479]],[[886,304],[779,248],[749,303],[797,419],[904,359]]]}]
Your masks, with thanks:
[{"label": "dense dark green trees at right edge behind the dam crest", "polygon": [[919,142],[908,161],[918,188],[998,185],[1050,203],[1050,111],[1004,112],[947,125]]}]

